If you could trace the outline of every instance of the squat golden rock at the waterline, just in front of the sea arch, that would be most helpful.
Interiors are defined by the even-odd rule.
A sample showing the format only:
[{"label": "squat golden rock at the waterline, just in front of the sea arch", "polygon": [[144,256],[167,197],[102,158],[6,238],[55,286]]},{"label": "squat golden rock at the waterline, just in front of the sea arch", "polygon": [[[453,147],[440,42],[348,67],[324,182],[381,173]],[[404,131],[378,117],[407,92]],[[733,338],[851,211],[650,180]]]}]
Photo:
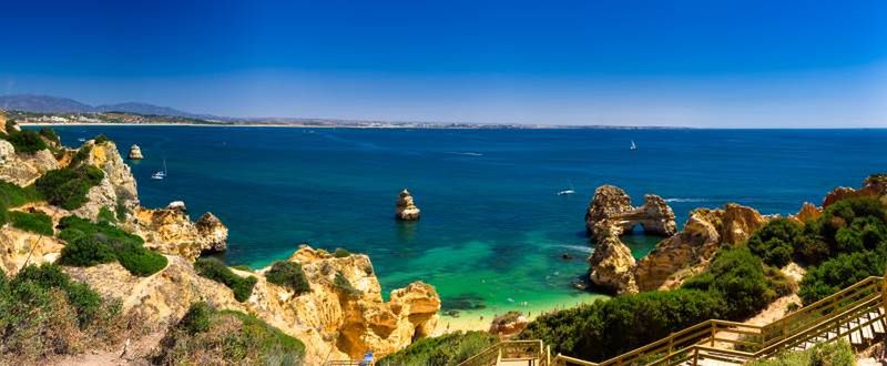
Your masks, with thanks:
[{"label": "squat golden rock at the waterline, just in front of the sea arch", "polygon": [[614,235],[598,242],[594,253],[589,257],[591,273],[589,278],[598,286],[612,289],[616,294],[636,293],[634,282],[634,256],[631,250]]}]

